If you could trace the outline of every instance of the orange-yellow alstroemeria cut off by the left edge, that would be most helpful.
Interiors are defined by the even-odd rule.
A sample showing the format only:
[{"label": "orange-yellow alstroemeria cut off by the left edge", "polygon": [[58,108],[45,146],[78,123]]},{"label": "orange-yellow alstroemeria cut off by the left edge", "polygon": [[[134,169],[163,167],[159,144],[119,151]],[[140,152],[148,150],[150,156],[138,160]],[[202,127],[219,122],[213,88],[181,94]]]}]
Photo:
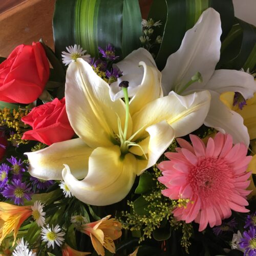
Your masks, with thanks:
[{"label": "orange-yellow alstroemeria cut off by the left edge", "polygon": [[0,245],[12,231],[14,245],[19,227],[31,215],[31,206],[17,206],[0,202]]}]

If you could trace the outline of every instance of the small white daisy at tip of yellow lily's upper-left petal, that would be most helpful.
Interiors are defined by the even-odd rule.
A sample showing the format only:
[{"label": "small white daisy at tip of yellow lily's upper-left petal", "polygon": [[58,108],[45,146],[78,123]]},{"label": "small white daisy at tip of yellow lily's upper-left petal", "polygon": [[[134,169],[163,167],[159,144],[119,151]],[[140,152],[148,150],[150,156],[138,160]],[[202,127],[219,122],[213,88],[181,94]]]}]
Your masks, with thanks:
[{"label": "small white daisy at tip of yellow lily's upper-left petal", "polygon": [[82,50],[80,46],[74,45],[66,47],[68,52],[61,52],[62,62],[65,66],[68,66],[69,63],[76,61],[77,58],[82,58],[87,62],[91,61],[91,55],[86,54],[87,50]]}]

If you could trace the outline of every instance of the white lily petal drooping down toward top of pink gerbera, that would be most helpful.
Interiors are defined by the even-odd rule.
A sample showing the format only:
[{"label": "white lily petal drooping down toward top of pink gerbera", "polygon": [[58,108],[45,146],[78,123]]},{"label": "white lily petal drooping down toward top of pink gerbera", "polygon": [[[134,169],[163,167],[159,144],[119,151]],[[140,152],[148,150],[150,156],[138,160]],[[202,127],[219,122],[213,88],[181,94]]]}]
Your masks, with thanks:
[{"label": "white lily petal drooping down toward top of pink gerbera", "polygon": [[234,144],[243,142],[248,146],[250,139],[243,118],[237,112],[229,110],[219,97],[218,93],[211,91],[210,110],[204,124],[230,134]]}]

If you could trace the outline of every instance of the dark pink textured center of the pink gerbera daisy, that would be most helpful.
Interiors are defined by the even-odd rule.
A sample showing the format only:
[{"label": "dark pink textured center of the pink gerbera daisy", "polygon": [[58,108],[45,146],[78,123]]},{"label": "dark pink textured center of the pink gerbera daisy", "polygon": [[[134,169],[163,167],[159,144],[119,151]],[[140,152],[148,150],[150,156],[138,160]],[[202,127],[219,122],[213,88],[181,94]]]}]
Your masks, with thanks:
[{"label": "dark pink textured center of the pink gerbera daisy", "polygon": [[197,166],[190,169],[188,180],[194,193],[207,199],[212,195],[221,196],[220,186],[232,175],[231,168],[222,158],[205,158],[198,160]]}]

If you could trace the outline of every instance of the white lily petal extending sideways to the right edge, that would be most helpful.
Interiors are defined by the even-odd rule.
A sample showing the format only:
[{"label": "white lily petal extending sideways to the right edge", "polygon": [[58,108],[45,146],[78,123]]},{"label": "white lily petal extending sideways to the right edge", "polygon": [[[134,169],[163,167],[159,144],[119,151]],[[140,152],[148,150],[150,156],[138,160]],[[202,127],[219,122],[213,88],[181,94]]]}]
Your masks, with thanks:
[{"label": "white lily petal extending sideways to the right edge", "polygon": [[246,72],[221,69],[214,72],[204,89],[218,93],[240,92],[248,99],[256,92],[256,81]]}]

